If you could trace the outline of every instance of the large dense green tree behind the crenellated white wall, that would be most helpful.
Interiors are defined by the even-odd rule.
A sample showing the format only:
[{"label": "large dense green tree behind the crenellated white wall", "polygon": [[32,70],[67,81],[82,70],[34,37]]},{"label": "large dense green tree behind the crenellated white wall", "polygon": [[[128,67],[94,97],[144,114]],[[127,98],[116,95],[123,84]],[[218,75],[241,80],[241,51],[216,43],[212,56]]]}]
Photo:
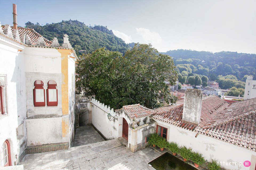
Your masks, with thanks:
[{"label": "large dense green tree behind the crenellated white wall", "polygon": [[78,63],[77,85],[87,87],[95,98],[111,108],[140,103],[147,108],[161,106],[162,99],[174,103],[165,81],[178,79],[170,56],[149,44],[135,44],[124,56],[100,48],[84,54]]}]

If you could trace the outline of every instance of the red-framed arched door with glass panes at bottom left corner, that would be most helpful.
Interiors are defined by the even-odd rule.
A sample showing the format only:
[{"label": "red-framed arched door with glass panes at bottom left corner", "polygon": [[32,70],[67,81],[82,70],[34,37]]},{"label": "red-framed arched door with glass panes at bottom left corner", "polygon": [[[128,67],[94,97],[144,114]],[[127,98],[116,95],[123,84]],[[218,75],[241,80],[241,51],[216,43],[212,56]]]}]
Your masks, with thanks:
[{"label": "red-framed arched door with glass panes at bottom left corner", "polygon": [[11,166],[11,149],[10,149],[10,143],[8,140],[6,140],[2,146],[1,164],[3,164],[5,167]]}]

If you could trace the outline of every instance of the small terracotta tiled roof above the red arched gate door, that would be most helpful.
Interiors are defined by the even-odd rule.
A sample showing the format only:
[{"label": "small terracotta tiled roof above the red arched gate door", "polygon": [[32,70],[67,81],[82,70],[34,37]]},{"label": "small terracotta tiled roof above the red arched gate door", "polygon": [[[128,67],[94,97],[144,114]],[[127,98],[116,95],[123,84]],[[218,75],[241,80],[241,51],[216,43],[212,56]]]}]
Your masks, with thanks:
[{"label": "small terracotta tiled roof above the red arched gate door", "polygon": [[[123,106],[122,109],[126,114],[129,115],[129,117],[131,119],[149,116],[149,115],[157,112],[157,111],[148,109],[146,107],[143,107],[140,104]],[[119,110],[121,110],[121,109],[119,109]]]}]

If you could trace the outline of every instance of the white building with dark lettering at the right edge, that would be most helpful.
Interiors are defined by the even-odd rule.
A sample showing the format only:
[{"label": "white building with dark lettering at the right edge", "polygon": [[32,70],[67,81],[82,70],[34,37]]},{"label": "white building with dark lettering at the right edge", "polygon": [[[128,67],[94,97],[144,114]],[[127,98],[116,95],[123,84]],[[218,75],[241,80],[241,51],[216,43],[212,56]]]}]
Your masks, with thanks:
[{"label": "white building with dark lettering at the right edge", "polygon": [[245,82],[244,99],[252,99],[256,97],[256,80],[252,76],[248,76]]}]

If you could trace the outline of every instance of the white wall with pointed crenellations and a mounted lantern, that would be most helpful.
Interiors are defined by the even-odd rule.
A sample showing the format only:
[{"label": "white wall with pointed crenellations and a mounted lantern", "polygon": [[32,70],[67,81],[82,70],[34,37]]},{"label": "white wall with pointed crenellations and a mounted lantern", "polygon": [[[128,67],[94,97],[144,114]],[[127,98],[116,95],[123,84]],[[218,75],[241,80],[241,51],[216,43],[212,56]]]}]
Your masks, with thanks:
[{"label": "white wall with pointed crenellations and a mounted lantern", "polygon": [[99,101],[91,100],[91,113],[93,126],[106,138],[115,139],[118,138],[118,120],[109,120],[107,115],[111,114],[111,118],[118,118],[118,115],[114,112],[114,109],[107,107],[107,105],[100,103]]}]

